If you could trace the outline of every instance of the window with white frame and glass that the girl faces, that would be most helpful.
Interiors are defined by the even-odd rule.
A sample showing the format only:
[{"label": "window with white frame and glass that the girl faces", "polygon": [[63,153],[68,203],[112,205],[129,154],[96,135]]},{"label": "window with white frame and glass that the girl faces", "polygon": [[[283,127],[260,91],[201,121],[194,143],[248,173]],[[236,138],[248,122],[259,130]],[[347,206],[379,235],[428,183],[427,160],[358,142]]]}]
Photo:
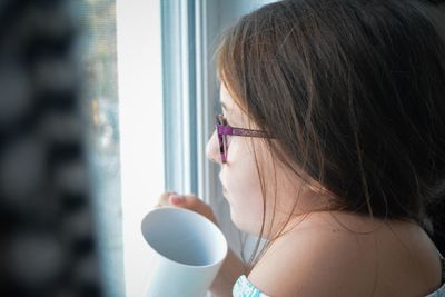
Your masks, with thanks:
[{"label": "window with white frame and glass that the girl faces", "polygon": [[241,250],[218,168],[205,156],[219,109],[212,55],[222,29],[265,2],[83,0],[107,296],[144,294],[152,255],[140,222],[165,189],[211,204],[230,247]]}]

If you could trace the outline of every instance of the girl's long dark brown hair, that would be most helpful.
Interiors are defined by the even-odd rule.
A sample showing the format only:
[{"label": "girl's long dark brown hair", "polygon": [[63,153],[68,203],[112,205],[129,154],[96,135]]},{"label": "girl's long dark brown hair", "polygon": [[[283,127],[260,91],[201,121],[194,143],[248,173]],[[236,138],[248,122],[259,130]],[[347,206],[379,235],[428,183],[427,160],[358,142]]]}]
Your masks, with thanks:
[{"label": "girl's long dark brown hair", "polygon": [[418,0],[279,1],[241,18],[217,52],[234,99],[276,137],[265,140],[274,156],[344,211],[435,227],[436,244],[445,211],[437,16]]}]

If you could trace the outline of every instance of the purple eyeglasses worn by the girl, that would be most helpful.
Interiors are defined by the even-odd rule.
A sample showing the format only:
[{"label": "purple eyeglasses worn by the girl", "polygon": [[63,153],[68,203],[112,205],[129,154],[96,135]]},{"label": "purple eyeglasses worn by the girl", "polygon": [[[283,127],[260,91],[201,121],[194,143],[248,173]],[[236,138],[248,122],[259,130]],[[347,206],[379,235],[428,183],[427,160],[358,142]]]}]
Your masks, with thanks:
[{"label": "purple eyeglasses worn by the girl", "polygon": [[222,115],[216,116],[216,131],[218,133],[219,151],[221,154],[221,162],[227,162],[228,151],[228,137],[243,136],[243,137],[258,137],[258,138],[273,138],[266,131],[250,130],[244,128],[231,127],[227,123]]}]

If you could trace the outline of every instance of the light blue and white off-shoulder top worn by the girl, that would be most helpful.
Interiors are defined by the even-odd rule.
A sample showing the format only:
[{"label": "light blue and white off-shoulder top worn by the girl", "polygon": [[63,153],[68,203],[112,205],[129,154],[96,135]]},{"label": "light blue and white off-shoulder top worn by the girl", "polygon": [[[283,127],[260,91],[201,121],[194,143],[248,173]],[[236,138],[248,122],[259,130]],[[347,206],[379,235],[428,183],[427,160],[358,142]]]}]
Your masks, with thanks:
[{"label": "light blue and white off-shoulder top worn by the girl", "polygon": [[[425,297],[445,297],[445,259],[442,255],[439,256],[442,264],[442,286]],[[235,283],[233,295],[234,297],[269,297],[251,285],[245,275],[240,276]]]}]

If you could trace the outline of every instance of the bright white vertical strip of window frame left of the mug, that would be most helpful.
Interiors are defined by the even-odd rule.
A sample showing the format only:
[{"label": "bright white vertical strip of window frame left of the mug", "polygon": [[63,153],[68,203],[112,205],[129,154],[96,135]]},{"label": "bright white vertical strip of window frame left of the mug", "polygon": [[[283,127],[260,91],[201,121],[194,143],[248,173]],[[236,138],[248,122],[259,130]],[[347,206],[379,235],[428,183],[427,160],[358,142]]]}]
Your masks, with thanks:
[{"label": "bright white vertical strip of window frame left of the mug", "polygon": [[144,296],[152,255],[140,221],[165,188],[160,2],[117,0],[118,89],[127,296]]}]

